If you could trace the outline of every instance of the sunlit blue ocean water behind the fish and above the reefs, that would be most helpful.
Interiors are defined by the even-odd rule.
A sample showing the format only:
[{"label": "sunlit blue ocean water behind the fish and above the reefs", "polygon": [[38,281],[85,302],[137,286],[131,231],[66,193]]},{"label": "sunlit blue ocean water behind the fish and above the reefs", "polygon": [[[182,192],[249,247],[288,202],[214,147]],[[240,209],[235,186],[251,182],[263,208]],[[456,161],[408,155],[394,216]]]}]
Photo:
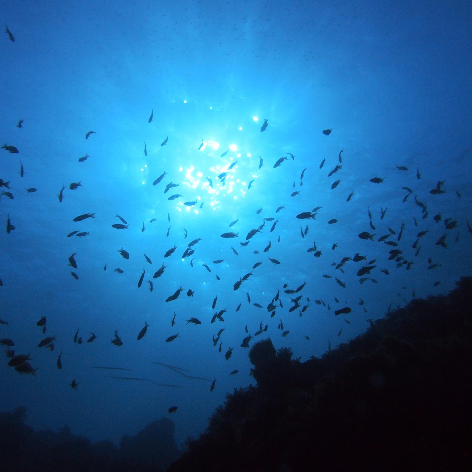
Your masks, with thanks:
[{"label": "sunlit blue ocean water behind the fish and above the reefs", "polygon": [[[2,409],[25,405],[34,428],[68,424],[94,441],[118,441],[177,406],[170,417],[180,444],[202,432],[227,392],[254,384],[240,345],[261,326],[267,331],[249,346],[270,337],[304,361],[355,337],[389,307],[446,293],[470,275],[470,19],[460,1],[5,2],[2,21],[15,41],[5,33],[0,48],[1,144],[19,152],[0,150],[0,178],[9,182],[1,190],[14,197],[0,199],[4,228],[10,220],[9,233],[0,232],[0,319],[8,322],[0,337],[14,341],[15,354],[30,353],[37,371],[20,374],[4,357]],[[179,186],[164,194],[171,181]],[[182,195],[169,201],[173,194]],[[296,218],[318,206],[316,219]],[[85,213],[94,218],[73,221]],[[127,229],[112,228],[117,214]],[[261,228],[264,218],[274,220]],[[89,234],[67,237],[73,231]],[[238,237],[220,236],[230,231]],[[397,246],[378,241],[388,234]],[[445,234],[447,247],[436,244]],[[314,245],[319,257],[308,251]],[[388,260],[394,249],[404,259]],[[68,265],[73,253],[76,269]],[[356,253],[366,260],[336,269]],[[374,260],[361,284],[358,270]],[[152,278],[162,263],[163,275]],[[284,292],[304,282],[299,293]],[[283,306],[274,302],[271,317],[278,291]],[[289,312],[299,295],[301,306]],[[352,311],[336,316],[343,307]],[[211,323],[224,309],[224,321]],[[186,324],[191,317],[202,324]],[[115,330],[122,346],[110,342]],[[90,332],[96,339],[87,343]],[[48,336],[53,351],[37,347]]]}]

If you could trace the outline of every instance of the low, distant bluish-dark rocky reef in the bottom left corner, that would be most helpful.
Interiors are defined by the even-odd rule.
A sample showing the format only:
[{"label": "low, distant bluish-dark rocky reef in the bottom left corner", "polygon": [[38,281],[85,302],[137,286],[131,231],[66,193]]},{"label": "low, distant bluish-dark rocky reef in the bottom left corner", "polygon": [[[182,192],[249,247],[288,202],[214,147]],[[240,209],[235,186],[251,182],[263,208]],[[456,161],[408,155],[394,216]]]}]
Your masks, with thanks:
[{"label": "low, distant bluish-dark rocky reef in the bottom left corner", "polygon": [[34,431],[25,425],[26,409],[0,413],[0,467],[4,472],[36,471],[164,471],[179,452],[174,423],[153,421],[134,437],[124,436],[120,447],[110,441],[92,443],[65,426],[59,432]]}]

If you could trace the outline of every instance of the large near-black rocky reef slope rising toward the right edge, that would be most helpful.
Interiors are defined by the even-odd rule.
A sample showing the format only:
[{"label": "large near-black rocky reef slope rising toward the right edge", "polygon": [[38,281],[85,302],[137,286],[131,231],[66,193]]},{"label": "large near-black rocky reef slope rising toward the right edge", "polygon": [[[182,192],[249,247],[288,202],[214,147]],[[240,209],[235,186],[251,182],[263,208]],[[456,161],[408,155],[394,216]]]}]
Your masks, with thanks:
[{"label": "large near-black rocky reef slope rising toward the right edge", "polygon": [[255,344],[258,386],[228,394],[169,472],[468,470],[472,278],[457,286],[320,359]]}]

